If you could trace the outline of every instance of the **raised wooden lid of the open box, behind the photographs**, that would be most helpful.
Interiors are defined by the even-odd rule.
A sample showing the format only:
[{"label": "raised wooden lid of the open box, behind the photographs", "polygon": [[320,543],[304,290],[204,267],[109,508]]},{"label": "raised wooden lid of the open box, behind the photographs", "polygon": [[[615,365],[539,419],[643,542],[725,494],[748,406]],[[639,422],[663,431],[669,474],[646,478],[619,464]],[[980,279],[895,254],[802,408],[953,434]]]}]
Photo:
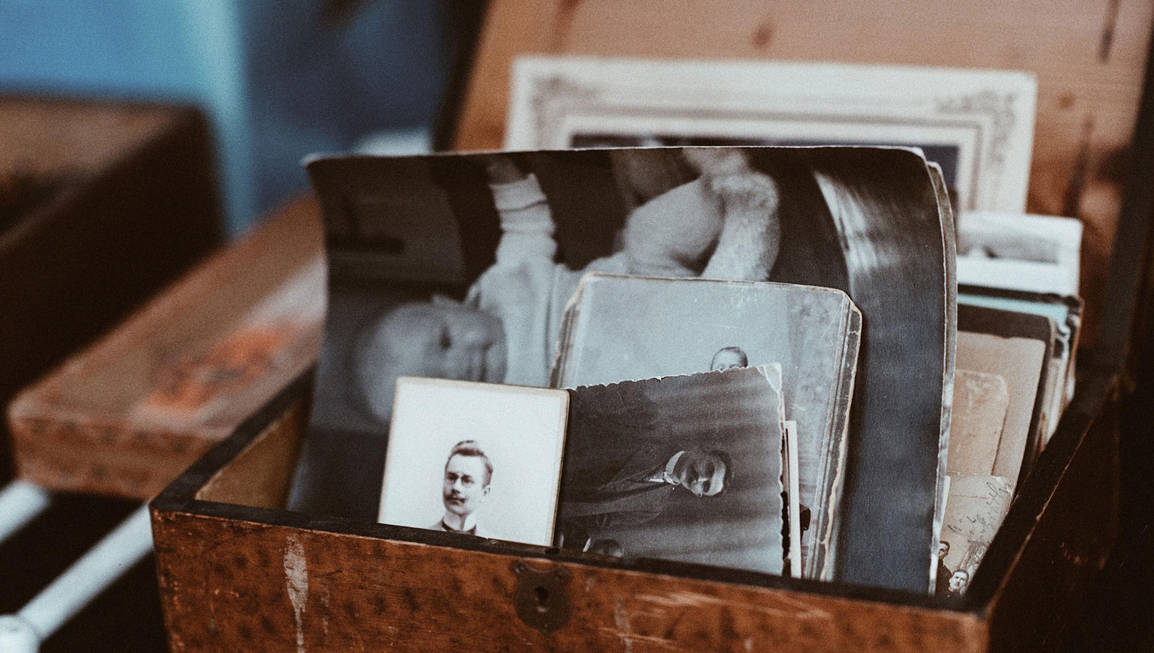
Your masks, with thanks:
[{"label": "raised wooden lid of the open box, behind the photographs", "polygon": [[1154,18],[1151,0],[493,0],[457,136],[499,149],[519,54],[777,59],[1033,71],[1027,211],[1086,226],[1093,344]]}]

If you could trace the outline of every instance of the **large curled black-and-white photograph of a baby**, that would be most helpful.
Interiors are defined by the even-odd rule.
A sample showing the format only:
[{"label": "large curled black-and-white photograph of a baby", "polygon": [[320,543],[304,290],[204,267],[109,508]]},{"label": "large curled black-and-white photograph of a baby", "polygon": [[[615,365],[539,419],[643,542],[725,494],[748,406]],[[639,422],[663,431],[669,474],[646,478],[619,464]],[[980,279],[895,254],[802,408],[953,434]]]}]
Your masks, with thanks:
[{"label": "large curled black-and-white photograph of a baby", "polygon": [[924,591],[956,328],[932,169],[885,147],[312,160],[330,295],[291,507],[375,517],[398,377],[548,385],[586,272],[799,283],[863,324],[829,575]]}]

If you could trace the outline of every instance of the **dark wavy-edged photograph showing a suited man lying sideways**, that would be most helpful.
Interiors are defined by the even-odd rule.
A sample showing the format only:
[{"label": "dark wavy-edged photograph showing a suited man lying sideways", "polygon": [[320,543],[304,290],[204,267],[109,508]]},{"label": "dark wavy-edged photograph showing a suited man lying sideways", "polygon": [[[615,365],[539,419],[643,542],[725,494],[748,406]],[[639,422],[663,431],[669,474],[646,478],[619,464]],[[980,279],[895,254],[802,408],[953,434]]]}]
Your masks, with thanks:
[{"label": "dark wavy-edged photograph showing a suited man lying sideways", "polygon": [[780,574],[782,417],[767,374],[780,370],[577,388],[557,544]]}]

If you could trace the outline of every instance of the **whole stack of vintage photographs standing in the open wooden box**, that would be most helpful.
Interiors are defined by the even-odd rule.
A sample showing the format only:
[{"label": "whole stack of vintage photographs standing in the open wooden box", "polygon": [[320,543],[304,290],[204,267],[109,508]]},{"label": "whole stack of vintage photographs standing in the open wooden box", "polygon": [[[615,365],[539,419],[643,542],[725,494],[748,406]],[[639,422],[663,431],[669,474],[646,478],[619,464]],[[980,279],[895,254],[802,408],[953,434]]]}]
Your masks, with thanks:
[{"label": "whole stack of vintage photographs standing in the open wooden box", "polygon": [[1073,393],[1080,223],[1021,214],[1033,77],[711,67],[999,102],[850,131],[832,107],[877,102],[622,111],[639,78],[689,111],[692,66],[526,59],[511,151],[307,162],[330,293],[292,509],[965,592]]}]

